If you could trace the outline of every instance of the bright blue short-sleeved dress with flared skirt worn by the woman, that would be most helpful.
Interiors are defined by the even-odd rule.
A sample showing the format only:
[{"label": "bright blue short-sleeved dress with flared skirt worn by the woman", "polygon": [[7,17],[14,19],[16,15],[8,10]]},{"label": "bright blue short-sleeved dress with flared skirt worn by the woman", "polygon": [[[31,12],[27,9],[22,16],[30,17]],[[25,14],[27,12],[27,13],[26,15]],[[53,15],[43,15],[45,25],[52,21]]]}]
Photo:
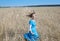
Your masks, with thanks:
[{"label": "bright blue short-sleeved dress with flared skirt worn by the woman", "polygon": [[27,39],[27,41],[37,41],[39,38],[37,30],[36,30],[36,21],[35,20],[30,20],[29,24],[31,25],[31,31],[34,33],[32,34],[31,32],[25,33],[24,38]]}]

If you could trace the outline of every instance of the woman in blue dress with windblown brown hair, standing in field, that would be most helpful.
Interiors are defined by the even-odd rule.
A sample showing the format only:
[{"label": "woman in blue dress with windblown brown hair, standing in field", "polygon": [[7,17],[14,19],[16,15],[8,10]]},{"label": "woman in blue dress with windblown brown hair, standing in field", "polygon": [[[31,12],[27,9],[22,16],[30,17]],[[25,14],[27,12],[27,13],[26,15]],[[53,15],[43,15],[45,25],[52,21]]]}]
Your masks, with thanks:
[{"label": "woman in blue dress with windblown brown hair, standing in field", "polygon": [[27,41],[37,41],[38,39],[38,33],[36,30],[36,21],[35,21],[35,12],[31,13],[30,15],[27,15],[31,19],[29,20],[29,32],[24,34],[24,38]]}]

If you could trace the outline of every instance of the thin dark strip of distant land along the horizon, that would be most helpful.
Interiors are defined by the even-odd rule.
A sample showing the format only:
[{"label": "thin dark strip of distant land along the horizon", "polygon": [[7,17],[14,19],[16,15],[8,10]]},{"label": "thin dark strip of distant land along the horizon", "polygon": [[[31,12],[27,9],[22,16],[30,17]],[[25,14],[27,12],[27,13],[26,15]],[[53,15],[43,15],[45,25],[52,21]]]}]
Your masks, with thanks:
[{"label": "thin dark strip of distant land along the horizon", "polygon": [[52,4],[52,5],[28,5],[28,6],[0,6],[0,8],[12,8],[12,7],[60,7],[60,4]]}]

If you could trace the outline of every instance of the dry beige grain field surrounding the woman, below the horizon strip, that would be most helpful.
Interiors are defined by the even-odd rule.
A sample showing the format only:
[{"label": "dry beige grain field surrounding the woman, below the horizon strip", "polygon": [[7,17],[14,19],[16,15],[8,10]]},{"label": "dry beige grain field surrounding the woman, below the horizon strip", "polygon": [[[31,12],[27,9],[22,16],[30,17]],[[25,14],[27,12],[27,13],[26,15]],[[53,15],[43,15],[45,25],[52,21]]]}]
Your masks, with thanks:
[{"label": "dry beige grain field surrounding the woman, below the horizon strip", "polygon": [[25,41],[32,10],[36,13],[39,41],[60,41],[60,7],[0,8],[0,41]]}]

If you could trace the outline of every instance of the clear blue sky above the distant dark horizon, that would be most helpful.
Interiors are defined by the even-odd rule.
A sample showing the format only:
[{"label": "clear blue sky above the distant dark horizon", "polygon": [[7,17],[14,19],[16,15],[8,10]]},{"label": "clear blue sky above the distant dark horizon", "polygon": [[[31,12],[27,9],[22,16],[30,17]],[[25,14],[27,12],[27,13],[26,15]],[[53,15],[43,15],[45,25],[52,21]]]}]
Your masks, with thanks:
[{"label": "clear blue sky above the distant dark horizon", "polygon": [[27,6],[60,4],[60,0],[0,0],[0,6]]}]

